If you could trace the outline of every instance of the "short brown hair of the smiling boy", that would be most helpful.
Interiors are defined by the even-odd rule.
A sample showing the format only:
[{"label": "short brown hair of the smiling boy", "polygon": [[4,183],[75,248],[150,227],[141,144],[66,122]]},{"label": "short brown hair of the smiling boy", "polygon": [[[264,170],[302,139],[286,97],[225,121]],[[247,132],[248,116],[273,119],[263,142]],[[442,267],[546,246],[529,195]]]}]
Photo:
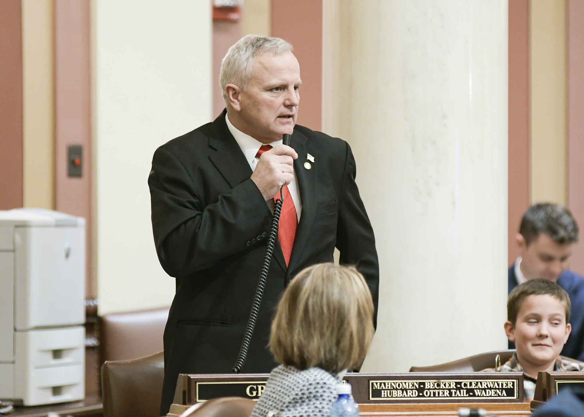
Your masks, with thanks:
[{"label": "short brown hair of the smiling boy", "polygon": [[507,298],[507,320],[512,322],[513,327],[515,327],[517,314],[521,310],[523,301],[529,296],[543,296],[545,294],[557,298],[560,303],[564,304],[567,323],[570,319],[571,308],[568,293],[555,282],[543,278],[526,281],[511,291]]}]

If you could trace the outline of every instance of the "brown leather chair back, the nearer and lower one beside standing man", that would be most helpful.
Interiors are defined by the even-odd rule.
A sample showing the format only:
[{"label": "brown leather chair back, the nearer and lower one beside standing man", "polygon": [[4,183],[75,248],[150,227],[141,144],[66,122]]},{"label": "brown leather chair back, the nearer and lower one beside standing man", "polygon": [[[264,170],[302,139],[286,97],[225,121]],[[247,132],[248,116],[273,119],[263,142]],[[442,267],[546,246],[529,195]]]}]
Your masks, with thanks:
[{"label": "brown leather chair back, the nearer and lower one beside standing man", "polygon": [[158,417],[164,352],[102,366],[104,417]]}]

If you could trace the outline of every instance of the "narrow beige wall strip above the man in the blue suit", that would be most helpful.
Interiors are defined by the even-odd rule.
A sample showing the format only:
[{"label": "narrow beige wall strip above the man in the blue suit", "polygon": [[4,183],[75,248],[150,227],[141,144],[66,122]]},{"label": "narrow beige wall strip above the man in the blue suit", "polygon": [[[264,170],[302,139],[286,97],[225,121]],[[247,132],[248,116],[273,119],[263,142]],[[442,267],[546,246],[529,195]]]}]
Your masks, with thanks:
[{"label": "narrow beige wall strip above the man in the blue suit", "polygon": [[531,202],[566,204],[566,3],[530,1]]}]

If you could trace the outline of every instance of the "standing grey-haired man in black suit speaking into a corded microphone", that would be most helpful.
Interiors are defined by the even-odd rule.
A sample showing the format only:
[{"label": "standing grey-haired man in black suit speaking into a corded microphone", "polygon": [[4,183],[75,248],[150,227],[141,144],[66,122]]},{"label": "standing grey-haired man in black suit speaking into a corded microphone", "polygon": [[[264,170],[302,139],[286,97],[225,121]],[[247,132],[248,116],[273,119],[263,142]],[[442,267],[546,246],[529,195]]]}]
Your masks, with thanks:
[{"label": "standing grey-haired man in black suit speaking into a corded microphone", "polygon": [[[158,258],[176,277],[164,333],[161,414],[179,373],[230,373],[252,307],[272,222],[284,204],[259,317],[242,373],[268,373],[273,308],[305,267],[356,265],[377,314],[373,230],[349,145],[297,126],[300,66],[286,41],[249,35],[221,65],[227,109],[213,123],[162,145],[148,179]],[[291,134],[290,147],[282,135]]]}]

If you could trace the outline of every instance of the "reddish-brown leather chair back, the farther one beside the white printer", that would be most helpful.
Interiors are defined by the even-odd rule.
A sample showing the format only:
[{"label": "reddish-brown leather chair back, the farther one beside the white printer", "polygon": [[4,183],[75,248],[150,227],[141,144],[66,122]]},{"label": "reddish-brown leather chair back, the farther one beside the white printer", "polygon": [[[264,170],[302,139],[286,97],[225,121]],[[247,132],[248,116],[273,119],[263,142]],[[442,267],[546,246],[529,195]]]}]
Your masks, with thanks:
[{"label": "reddish-brown leather chair back, the farther one beside the white printer", "polygon": [[162,335],[169,308],[106,314],[99,321],[100,364],[164,350]]}]

